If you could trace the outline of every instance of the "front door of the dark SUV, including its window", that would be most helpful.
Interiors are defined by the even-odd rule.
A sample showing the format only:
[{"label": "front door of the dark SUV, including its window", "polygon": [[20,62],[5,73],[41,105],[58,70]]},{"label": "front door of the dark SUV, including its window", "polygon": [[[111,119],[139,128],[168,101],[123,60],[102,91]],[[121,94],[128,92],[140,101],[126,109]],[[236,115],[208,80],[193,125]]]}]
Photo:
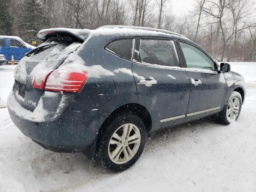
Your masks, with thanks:
[{"label": "front door of the dark SUV, including its window", "polygon": [[179,42],[184,65],[190,80],[190,99],[186,121],[219,112],[226,98],[226,80],[218,73],[212,58],[188,42]]}]

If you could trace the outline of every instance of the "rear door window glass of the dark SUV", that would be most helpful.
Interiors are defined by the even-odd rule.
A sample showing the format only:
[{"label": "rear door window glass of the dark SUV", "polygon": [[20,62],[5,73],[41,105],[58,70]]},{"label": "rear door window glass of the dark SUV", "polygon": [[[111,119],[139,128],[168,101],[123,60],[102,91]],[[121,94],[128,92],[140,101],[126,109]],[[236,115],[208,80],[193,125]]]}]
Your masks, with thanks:
[{"label": "rear door window glass of the dark SUV", "polygon": [[147,64],[180,66],[173,40],[141,39],[140,58],[143,63]]}]

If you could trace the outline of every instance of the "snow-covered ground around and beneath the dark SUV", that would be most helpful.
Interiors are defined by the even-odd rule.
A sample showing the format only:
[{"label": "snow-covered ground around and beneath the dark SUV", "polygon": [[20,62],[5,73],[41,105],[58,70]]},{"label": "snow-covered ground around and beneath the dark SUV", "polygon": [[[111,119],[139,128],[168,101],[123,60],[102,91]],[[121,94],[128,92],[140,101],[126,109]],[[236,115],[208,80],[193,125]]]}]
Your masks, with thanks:
[{"label": "snow-covered ground around and beneath the dark SUV", "polygon": [[[255,192],[256,63],[231,63],[246,80],[237,122],[209,119],[160,130],[134,166],[105,171],[82,154],[50,152],[24,136],[0,108],[0,192]],[[0,66],[0,97],[12,89],[14,66]]]}]

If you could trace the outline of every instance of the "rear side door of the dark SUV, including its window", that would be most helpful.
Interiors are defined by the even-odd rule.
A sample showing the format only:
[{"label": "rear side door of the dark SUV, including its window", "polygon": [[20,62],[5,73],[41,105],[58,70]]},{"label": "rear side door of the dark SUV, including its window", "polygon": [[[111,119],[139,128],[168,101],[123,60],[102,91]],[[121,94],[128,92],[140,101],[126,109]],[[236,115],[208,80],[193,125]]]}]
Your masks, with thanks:
[{"label": "rear side door of the dark SUV, including its window", "polygon": [[176,46],[173,39],[136,38],[132,72],[138,102],[152,117],[152,130],[185,120],[190,82]]}]

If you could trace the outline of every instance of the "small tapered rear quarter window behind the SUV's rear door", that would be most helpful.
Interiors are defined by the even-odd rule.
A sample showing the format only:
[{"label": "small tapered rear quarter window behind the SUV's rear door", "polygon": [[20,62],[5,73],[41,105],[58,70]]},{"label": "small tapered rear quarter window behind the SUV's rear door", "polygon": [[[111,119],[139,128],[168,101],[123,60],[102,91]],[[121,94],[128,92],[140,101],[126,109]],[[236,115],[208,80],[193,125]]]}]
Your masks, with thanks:
[{"label": "small tapered rear quarter window behind the SUV's rear door", "polygon": [[106,50],[122,58],[132,60],[135,39],[118,39],[110,42]]}]

